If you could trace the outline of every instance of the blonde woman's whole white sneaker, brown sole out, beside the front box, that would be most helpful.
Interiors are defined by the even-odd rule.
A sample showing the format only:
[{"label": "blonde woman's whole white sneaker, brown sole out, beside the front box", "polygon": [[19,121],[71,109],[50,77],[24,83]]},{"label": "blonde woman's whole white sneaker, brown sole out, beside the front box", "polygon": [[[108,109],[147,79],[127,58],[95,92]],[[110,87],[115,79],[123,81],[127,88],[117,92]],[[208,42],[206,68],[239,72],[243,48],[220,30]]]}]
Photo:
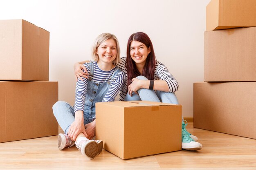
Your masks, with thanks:
[{"label": "blonde woman's whole white sneaker, brown sole out, beside the front box", "polygon": [[93,159],[99,155],[103,148],[103,141],[101,140],[79,140],[75,143],[76,147],[79,148],[79,151],[81,151],[82,155],[90,159]]}]

